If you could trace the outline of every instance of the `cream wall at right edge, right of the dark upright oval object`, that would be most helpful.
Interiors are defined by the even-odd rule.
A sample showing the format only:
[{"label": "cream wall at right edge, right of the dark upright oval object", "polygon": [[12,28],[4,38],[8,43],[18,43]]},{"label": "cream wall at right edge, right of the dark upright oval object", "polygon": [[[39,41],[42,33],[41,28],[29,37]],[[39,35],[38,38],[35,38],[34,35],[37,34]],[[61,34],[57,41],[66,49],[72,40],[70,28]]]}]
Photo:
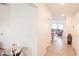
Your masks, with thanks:
[{"label": "cream wall at right edge, right of the dark upright oval object", "polygon": [[79,12],[73,17],[74,22],[74,39],[73,39],[73,48],[75,49],[77,55],[79,55]]}]

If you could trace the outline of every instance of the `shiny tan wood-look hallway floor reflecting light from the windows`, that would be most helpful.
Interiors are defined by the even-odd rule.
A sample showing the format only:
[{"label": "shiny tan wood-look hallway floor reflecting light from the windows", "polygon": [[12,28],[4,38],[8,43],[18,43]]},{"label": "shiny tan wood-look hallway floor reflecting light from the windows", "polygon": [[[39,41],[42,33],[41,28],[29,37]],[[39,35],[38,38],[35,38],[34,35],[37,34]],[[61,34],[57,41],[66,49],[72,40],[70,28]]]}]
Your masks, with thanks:
[{"label": "shiny tan wood-look hallway floor reflecting light from the windows", "polygon": [[76,52],[71,45],[64,43],[63,39],[55,38],[51,46],[47,47],[45,56],[75,56]]}]

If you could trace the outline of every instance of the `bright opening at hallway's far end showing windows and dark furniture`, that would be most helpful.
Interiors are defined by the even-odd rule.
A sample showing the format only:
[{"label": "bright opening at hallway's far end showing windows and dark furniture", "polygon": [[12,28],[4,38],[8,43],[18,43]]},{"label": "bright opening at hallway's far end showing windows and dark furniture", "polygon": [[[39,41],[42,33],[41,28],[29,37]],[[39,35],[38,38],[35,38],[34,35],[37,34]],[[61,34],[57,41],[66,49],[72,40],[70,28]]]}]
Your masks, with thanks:
[{"label": "bright opening at hallway's far end showing windows and dark furniture", "polygon": [[65,26],[65,19],[64,16],[54,16],[51,22],[51,37],[52,40],[56,40],[56,38],[60,37],[63,38],[64,34],[64,26]]}]

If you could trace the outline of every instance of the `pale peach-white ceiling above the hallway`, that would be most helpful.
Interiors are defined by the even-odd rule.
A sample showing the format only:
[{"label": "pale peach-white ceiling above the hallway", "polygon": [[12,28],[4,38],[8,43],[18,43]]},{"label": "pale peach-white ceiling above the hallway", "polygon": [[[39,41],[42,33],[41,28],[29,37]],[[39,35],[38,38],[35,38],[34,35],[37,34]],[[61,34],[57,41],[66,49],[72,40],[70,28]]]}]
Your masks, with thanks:
[{"label": "pale peach-white ceiling above the hallway", "polygon": [[46,3],[45,5],[53,15],[64,14],[66,16],[73,16],[77,11],[79,11],[79,3]]}]

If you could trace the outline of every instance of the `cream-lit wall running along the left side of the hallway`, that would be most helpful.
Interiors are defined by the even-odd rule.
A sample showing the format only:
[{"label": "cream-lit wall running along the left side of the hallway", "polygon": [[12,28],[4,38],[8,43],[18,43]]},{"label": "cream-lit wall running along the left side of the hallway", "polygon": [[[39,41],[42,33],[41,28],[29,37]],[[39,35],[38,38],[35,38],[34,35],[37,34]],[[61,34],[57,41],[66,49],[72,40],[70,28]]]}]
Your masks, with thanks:
[{"label": "cream-lit wall running along the left side of the hallway", "polygon": [[38,7],[38,55],[44,55],[50,45],[50,21],[51,13],[44,4],[35,4]]}]

